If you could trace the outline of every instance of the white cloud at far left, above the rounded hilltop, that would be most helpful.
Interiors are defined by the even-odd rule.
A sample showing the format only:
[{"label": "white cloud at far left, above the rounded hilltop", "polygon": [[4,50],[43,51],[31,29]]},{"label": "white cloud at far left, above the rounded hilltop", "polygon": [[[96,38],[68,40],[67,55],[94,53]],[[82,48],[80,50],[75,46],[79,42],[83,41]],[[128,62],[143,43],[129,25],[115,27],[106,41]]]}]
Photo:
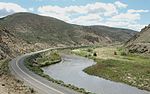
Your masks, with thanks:
[{"label": "white cloud at far left, above the rounded hilltop", "polygon": [[0,2],[0,17],[4,17],[15,12],[27,12],[27,10],[15,3]]}]

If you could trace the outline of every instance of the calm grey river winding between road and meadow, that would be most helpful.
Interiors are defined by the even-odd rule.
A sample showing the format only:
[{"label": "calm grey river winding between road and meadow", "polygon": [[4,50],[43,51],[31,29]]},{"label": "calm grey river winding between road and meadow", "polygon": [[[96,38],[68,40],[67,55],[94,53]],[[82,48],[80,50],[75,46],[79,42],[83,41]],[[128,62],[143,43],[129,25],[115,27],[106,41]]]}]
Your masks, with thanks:
[{"label": "calm grey river winding between road and meadow", "polygon": [[67,84],[73,84],[96,94],[150,94],[145,90],[91,76],[82,70],[95,62],[80,56],[62,55],[61,63],[44,67],[44,73],[54,79],[62,80]]}]

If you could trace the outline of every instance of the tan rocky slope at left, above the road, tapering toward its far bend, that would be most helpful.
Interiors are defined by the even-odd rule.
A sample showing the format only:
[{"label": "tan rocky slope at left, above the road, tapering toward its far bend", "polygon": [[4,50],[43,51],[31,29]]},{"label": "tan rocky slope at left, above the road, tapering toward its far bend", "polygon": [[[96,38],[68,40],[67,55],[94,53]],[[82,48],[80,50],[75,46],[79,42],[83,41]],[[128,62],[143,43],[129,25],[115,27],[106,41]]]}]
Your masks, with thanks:
[{"label": "tan rocky slope at left, above the road, tapering toward its far bend", "polygon": [[12,31],[0,27],[0,60],[52,47],[46,43],[30,43],[13,35]]}]

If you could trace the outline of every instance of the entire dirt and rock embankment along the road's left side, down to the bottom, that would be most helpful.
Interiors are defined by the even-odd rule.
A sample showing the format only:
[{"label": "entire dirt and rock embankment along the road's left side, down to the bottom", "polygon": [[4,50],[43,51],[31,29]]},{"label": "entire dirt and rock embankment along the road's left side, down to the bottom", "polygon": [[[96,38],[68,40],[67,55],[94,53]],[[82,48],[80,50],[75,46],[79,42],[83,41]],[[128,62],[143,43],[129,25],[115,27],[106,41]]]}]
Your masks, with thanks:
[{"label": "entire dirt and rock embankment along the road's left side, down to the bottom", "polygon": [[46,47],[45,44],[27,43],[0,27],[0,94],[35,94],[34,89],[10,74],[8,62],[18,55]]}]

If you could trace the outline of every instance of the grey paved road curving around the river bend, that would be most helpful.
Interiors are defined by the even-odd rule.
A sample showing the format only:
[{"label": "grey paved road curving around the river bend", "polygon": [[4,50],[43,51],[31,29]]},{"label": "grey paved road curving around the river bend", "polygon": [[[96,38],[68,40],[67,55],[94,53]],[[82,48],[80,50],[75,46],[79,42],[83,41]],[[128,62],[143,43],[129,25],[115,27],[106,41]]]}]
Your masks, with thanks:
[{"label": "grey paved road curving around the river bend", "polygon": [[27,57],[48,50],[52,49],[45,49],[16,57],[11,62],[9,62],[11,73],[18,79],[23,80],[25,84],[34,88],[39,94],[79,94],[78,92],[75,92],[71,89],[46,80],[45,78],[31,72],[24,66],[24,59],[26,59]]}]

